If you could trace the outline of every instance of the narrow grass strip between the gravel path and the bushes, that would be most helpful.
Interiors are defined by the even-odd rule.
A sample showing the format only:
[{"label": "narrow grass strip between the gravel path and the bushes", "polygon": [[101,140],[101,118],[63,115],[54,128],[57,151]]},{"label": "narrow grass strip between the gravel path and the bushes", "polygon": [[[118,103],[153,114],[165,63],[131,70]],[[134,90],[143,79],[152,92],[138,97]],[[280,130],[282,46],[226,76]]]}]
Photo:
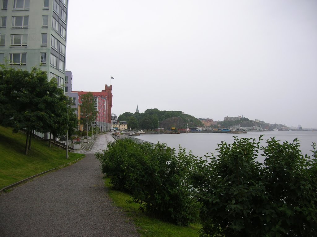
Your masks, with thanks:
[{"label": "narrow grass strip between the gravel path and the bushes", "polygon": [[128,204],[126,200],[130,195],[111,189],[108,178],[105,179],[105,185],[108,187],[108,193],[114,204],[125,211],[131,218],[143,237],[198,237],[198,231],[201,228],[199,224],[191,224],[188,227],[180,227],[147,216],[139,210],[139,205],[135,203]]}]

